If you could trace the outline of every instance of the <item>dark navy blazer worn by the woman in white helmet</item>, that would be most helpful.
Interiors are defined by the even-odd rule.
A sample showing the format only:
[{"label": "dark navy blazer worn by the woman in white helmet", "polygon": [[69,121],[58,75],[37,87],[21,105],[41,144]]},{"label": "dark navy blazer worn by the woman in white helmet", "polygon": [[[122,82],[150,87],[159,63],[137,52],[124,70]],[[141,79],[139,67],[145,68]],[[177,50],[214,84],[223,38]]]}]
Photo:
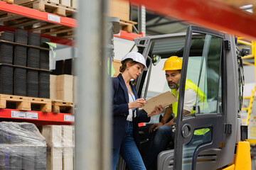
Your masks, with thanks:
[{"label": "dark navy blazer worn by the woman in white helmet", "polygon": [[[132,91],[134,91],[135,98],[138,98],[135,87],[132,86],[131,83],[130,85],[132,87]],[[129,115],[129,96],[122,74],[119,74],[118,77],[112,78],[112,87],[112,147],[113,149],[117,149],[121,146],[127,115]],[[138,123],[149,122],[149,120],[150,118],[147,117],[147,113],[143,109],[139,111],[137,108],[137,116],[132,119],[132,123],[134,141],[139,149]]]}]

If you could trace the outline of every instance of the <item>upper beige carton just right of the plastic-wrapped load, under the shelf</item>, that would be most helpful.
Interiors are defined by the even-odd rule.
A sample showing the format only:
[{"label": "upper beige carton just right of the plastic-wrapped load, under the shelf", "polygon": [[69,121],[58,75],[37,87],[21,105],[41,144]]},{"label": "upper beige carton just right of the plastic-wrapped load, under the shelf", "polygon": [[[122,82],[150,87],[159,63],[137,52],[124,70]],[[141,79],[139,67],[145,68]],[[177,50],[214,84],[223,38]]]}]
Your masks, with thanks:
[{"label": "upper beige carton just right of the plastic-wrapped load, under the shelf", "polygon": [[41,129],[43,137],[46,138],[46,144],[49,147],[62,147],[62,126],[44,125]]}]

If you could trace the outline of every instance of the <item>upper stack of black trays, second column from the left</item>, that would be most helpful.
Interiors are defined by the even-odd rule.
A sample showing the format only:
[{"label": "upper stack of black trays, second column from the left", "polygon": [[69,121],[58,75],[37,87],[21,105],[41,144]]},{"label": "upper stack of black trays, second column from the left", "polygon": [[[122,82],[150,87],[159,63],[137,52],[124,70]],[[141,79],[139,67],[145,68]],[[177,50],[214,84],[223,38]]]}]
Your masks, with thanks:
[{"label": "upper stack of black trays, second column from the left", "polygon": [[15,31],[15,42],[23,45],[14,46],[14,65],[26,67],[28,33],[26,30]]}]

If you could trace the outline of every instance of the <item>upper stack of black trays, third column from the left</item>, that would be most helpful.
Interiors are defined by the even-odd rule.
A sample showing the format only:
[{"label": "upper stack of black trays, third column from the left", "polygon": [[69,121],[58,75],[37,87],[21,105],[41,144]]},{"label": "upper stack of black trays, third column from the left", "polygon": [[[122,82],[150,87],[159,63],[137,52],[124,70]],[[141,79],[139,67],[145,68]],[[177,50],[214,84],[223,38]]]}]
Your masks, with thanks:
[{"label": "upper stack of black trays, third column from the left", "polygon": [[[40,47],[40,35],[38,33],[28,33],[28,45]],[[36,47],[28,47],[28,63],[27,66],[39,69],[40,49]]]}]

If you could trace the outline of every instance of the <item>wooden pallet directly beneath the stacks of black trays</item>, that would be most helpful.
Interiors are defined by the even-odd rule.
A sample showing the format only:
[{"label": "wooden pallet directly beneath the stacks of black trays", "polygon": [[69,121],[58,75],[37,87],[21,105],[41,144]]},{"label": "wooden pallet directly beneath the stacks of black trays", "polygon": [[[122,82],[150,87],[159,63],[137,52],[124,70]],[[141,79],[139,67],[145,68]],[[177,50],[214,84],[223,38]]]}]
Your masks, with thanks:
[{"label": "wooden pallet directly beneath the stacks of black trays", "polygon": [[12,108],[21,111],[51,112],[51,100],[0,94],[0,108]]}]

